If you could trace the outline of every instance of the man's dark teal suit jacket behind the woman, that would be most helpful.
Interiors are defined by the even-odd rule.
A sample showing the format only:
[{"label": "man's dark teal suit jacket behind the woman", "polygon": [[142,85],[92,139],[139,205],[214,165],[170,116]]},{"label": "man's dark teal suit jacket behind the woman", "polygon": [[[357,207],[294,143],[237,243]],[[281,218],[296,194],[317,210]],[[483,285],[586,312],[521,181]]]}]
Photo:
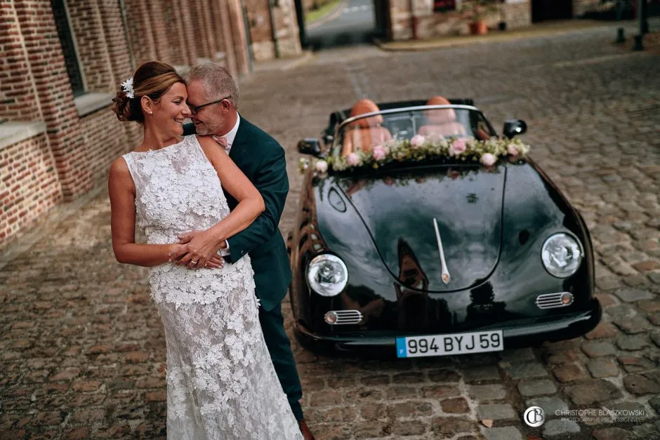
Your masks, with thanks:
[{"label": "man's dark teal suit jacket behind the woman", "polygon": [[[184,135],[193,133],[193,124],[183,127]],[[289,255],[278,228],[289,192],[284,149],[268,133],[241,116],[229,156],[261,193],[265,204],[265,211],[249,227],[227,239],[230,259],[234,263],[250,255],[256,295],[263,309],[272,310],[282,302],[291,283]],[[238,202],[227,192],[225,196],[233,210]]]}]

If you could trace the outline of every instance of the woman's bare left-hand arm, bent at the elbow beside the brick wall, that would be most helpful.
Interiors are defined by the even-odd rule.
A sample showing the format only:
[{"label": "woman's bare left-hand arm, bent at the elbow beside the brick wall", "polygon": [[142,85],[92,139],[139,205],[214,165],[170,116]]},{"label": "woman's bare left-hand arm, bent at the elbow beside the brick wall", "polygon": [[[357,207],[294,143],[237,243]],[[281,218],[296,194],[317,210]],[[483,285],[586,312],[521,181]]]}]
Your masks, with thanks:
[{"label": "woman's bare left-hand arm, bent at the elbow beside the brick wall", "polygon": [[157,266],[169,259],[180,244],[136,244],[136,189],[123,157],[110,167],[112,250],[117,261],[138,266]]}]

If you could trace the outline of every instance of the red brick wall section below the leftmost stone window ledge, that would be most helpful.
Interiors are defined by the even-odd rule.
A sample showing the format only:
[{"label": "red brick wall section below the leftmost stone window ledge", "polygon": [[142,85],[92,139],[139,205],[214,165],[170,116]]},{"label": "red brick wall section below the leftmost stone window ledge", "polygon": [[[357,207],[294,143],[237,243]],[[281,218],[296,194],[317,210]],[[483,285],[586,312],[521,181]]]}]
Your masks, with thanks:
[{"label": "red brick wall section below the leftmost stone window ledge", "polygon": [[46,134],[0,149],[0,176],[1,246],[62,199]]}]

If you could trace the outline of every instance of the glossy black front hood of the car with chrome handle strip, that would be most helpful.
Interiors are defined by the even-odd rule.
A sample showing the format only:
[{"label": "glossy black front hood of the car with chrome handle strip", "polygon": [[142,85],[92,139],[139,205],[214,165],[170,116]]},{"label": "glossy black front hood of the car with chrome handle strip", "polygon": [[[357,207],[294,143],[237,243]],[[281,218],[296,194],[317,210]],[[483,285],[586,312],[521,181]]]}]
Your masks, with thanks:
[{"label": "glossy black front hood of the car with chrome handle strip", "polygon": [[[494,270],[502,236],[506,166],[428,166],[388,175],[341,178],[339,187],[402,286],[451,292]],[[442,281],[437,221],[449,283]]]}]

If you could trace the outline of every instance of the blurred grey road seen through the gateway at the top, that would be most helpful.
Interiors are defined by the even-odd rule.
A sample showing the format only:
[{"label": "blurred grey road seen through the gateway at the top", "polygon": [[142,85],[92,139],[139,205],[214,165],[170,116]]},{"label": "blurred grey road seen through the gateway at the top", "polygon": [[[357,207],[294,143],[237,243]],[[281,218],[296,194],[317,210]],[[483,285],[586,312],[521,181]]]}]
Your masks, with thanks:
[{"label": "blurred grey road seen through the gateway at the top", "polygon": [[318,51],[369,43],[374,34],[374,20],[374,0],[348,0],[334,20],[308,30],[308,44]]}]

